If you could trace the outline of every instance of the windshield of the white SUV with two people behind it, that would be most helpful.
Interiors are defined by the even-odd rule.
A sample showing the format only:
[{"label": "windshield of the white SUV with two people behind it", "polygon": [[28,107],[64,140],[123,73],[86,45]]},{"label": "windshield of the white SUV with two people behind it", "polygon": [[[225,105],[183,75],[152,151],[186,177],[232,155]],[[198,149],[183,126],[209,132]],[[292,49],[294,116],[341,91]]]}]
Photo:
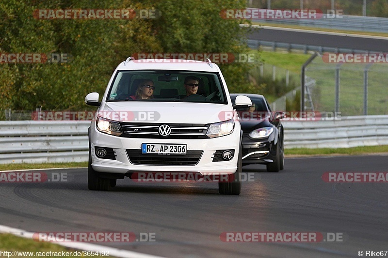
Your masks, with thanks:
[{"label": "windshield of the white SUV with two people behind it", "polygon": [[107,102],[171,101],[227,104],[218,73],[192,71],[118,71]]}]

